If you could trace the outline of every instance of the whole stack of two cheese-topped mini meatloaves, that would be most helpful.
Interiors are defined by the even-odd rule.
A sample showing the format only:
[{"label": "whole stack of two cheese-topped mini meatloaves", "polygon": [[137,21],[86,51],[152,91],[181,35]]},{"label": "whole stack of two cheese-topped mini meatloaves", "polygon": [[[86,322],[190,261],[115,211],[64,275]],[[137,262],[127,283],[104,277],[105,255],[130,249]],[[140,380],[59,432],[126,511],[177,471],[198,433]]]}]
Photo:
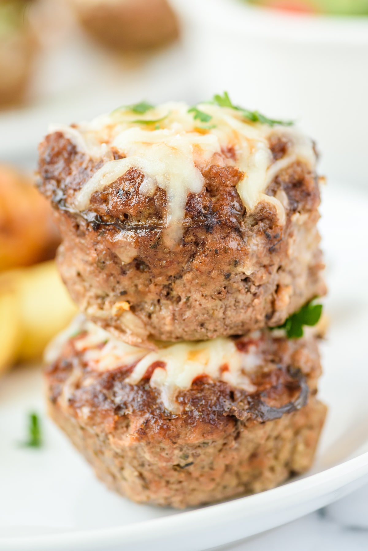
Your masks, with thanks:
[{"label": "whole stack of two cheese-topped mini meatloaves", "polygon": [[313,142],[231,104],[56,127],[39,188],[81,315],[47,351],[51,416],[110,488],[195,506],[311,465],[326,408]]}]

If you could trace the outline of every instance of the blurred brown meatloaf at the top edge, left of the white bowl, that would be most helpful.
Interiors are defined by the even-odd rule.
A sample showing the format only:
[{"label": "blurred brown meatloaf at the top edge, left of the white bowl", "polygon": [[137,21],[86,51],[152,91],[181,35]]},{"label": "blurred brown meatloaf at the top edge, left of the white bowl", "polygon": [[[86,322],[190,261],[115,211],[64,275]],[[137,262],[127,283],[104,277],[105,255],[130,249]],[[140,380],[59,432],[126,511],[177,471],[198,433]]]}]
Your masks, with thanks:
[{"label": "blurred brown meatloaf at the top edge, left of the white bowl", "polygon": [[145,50],[178,36],[166,0],[70,0],[84,29],[113,50]]}]

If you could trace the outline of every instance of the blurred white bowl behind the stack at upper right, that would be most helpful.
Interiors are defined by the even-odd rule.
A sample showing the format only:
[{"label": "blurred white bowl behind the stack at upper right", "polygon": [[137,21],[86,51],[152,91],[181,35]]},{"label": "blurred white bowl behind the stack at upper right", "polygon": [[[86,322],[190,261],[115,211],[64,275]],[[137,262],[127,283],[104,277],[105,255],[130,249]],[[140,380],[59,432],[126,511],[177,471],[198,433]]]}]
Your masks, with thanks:
[{"label": "blurred white bowl behind the stack at upper right", "polygon": [[368,186],[368,17],[297,15],[241,0],[175,0],[201,98],[297,121],[321,171]]}]

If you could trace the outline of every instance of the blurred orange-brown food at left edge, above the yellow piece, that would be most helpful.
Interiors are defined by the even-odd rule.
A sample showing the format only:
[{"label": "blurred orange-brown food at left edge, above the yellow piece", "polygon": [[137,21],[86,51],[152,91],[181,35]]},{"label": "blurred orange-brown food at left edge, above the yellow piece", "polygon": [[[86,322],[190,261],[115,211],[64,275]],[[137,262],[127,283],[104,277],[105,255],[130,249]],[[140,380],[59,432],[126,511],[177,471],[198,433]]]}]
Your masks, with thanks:
[{"label": "blurred orange-brown food at left edge, above the yellow piece", "polygon": [[29,178],[0,165],[0,271],[55,256],[52,211]]}]

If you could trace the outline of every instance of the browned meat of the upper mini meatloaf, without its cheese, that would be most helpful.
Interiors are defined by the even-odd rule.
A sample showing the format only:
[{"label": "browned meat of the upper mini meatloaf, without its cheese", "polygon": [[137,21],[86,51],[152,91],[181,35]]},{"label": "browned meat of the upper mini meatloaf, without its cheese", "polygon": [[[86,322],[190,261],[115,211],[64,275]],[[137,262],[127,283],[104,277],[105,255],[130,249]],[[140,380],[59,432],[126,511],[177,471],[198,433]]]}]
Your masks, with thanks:
[{"label": "browned meat of the upper mini meatloaf, without its cheese", "polygon": [[[282,147],[274,138],[275,158]],[[188,196],[182,240],[170,248],[163,239],[166,193],[141,195],[136,169],[94,193],[87,212],[72,213],[76,191],[102,161],[78,153],[61,133],[46,137],[39,187],[63,236],[58,265],[93,321],[131,344],[201,340],[279,325],[325,293],[316,175],[298,161],[271,183],[269,195],[282,193],[289,204],[280,226],[268,203],[252,213],[243,207],[235,187],[242,173],[228,166],[229,155],[217,154],[203,172],[206,187]]]}]

